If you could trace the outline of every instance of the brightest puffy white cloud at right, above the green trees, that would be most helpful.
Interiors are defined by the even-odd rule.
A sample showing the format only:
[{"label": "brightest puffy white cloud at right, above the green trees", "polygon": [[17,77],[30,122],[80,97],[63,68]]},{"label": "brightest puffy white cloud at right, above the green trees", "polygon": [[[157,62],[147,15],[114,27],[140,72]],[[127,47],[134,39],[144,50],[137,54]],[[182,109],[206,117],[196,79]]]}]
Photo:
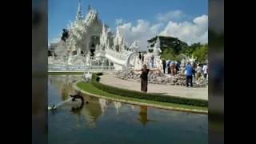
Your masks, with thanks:
[{"label": "brightest puffy white cloud at right, above the green trees", "polygon": [[168,22],[160,35],[179,38],[188,44],[208,42],[208,16],[194,18],[193,22]]}]

